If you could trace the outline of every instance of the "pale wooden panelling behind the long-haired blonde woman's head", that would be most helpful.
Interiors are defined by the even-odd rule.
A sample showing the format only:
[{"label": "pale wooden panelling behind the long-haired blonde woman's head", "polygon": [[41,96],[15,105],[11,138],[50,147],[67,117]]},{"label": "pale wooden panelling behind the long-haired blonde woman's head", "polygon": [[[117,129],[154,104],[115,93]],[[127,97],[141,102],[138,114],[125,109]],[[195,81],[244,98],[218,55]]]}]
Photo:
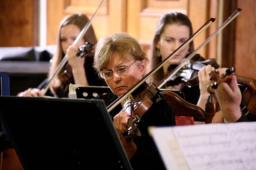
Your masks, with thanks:
[{"label": "pale wooden panelling behind the long-haired blonde woman's head", "polygon": [[[56,44],[59,22],[72,13],[83,13],[91,19],[101,0],[47,1],[47,44]],[[56,9],[57,6],[57,9]],[[54,16],[54,18],[52,17]],[[97,39],[104,35],[126,31],[126,1],[109,0],[92,21]]]}]

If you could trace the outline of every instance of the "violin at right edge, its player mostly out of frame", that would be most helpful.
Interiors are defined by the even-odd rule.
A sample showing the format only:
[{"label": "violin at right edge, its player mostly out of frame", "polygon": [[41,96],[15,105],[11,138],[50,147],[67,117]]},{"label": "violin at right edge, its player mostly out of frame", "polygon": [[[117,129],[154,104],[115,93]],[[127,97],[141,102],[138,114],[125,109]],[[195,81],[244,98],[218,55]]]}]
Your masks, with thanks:
[{"label": "violin at right edge, its player mostly out of frame", "polygon": [[[210,71],[210,79],[214,80],[213,88],[216,89],[219,83],[229,83],[231,81],[231,73],[235,72],[235,68],[231,67],[226,70],[224,75],[219,75],[218,71]],[[247,88],[242,94],[242,104],[247,108],[248,112],[256,114],[256,80],[236,75],[238,84]]]}]

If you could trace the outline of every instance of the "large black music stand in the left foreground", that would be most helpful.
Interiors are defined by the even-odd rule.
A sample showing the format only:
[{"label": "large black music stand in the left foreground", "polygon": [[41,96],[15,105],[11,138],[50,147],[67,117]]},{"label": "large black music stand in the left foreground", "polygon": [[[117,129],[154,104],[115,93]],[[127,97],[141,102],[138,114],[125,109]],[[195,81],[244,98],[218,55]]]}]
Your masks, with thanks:
[{"label": "large black music stand in the left foreground", "polygon": [[0,103],[25,170],[132,169],[103,100],[2,96]]}]

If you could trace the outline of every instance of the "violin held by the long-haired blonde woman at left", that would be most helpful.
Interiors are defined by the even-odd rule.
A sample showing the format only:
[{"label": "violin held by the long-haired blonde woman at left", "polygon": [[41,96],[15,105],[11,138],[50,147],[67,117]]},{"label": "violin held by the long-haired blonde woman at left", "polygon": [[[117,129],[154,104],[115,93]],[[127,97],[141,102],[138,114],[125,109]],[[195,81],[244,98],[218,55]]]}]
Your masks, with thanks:
[{"label": "violin held by the long-haired blonde woman at left", "polygon": [[[91,44],[89,42],[85,42],[84,45],[79,47],[79,52],[76,52],[76,56],[80,57],[80,58],[82,58],[82,57],[93,58],[93,55],[94,55],[94,46],[93,46],[93,44]],[[53,88],[54,92],[56,94],[59,94],[59,93],[64,93],[65,94],[68,90],[69,84],[72,83],[73,80],[74,79],[73,79],[73,74],[72,74],[72,68],[67,62],[65,64],[62,75],[60,76],[60,81],[62,83],[60,84],[60,86]]]}]

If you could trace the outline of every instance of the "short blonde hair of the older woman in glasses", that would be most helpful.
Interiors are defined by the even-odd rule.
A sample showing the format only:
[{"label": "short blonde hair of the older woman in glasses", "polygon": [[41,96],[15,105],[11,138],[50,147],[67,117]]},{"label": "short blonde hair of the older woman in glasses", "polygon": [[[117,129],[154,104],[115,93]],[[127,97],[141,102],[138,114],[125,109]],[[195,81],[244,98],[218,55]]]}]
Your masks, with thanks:
[{"label": "short blonde hair of the older woman in glasses", "polygon": [[93,67],[98,74],[108,66],[114,53],[118,53],[124,61],[129,60],[127,55],[131,55],[134,60],[146,60],[149,63],[147,54],[135,38],[125,32],[115,33],[100,38],[95,46]]}]

